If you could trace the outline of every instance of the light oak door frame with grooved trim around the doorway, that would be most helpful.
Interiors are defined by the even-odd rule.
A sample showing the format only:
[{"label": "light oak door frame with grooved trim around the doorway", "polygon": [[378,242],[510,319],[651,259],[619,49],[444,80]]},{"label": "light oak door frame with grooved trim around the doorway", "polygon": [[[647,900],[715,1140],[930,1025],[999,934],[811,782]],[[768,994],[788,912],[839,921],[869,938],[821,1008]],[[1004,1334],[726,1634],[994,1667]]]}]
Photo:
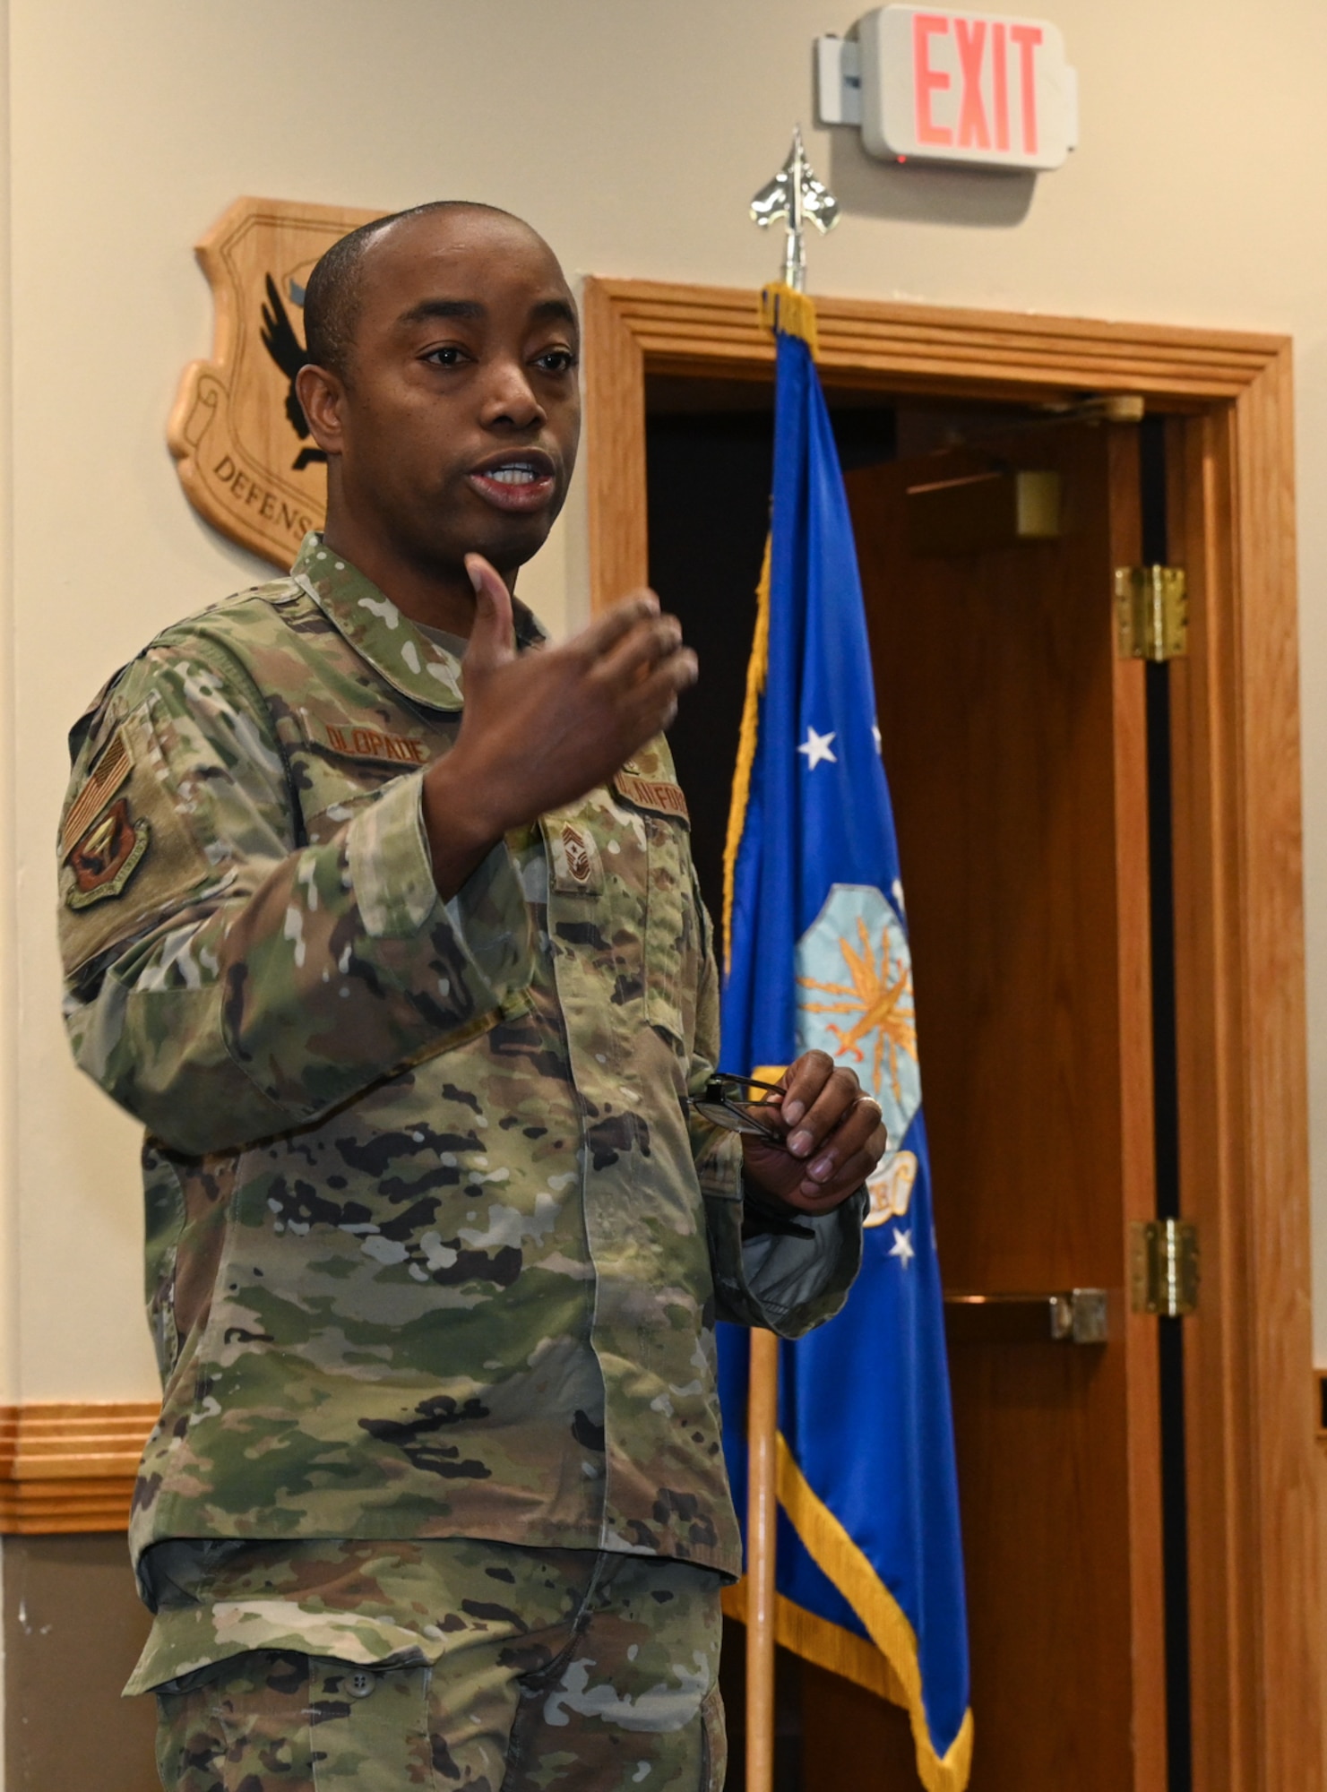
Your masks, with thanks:
[{"label": "light oak door frame with grooved trim around the doorway", "polygon": [[[827,383],[1169,416],[1171,667],[1196,1792],[1320,1792],[1291,348],[1286,337],[818,299]],[[768,380],[755,296],[585,283],[595,607],[646,582],[646,375]],[[1110,602],[1110,593],[1101,593]]]}]

